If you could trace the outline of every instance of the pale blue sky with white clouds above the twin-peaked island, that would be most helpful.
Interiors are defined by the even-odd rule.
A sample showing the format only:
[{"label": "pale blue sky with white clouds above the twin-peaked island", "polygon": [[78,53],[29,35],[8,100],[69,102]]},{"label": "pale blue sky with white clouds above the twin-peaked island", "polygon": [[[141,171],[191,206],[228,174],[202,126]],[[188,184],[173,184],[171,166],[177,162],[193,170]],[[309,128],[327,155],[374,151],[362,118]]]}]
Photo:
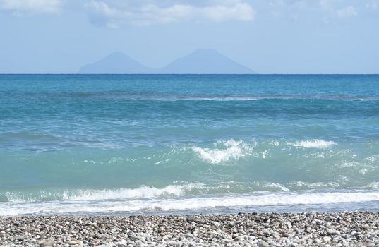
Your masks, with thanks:
[{"label": "pale blue sky with white clouds above the twin-peaked island", "polygon": [[379,73],[379,0],[0,0],[0,73],[163,67],[216,49],[258,73]]}]

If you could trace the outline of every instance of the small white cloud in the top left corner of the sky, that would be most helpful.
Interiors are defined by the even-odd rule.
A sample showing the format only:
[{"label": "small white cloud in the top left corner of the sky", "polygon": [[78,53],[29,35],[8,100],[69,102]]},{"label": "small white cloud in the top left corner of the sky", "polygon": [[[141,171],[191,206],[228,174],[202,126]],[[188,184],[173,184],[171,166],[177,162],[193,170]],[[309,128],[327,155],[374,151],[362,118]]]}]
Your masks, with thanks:
[{"label": "small white cloud in the top left corner of the sky", "polygon": [[14,15],[25,13],[58,13],[60,0],[0,0],[0,11]]}]

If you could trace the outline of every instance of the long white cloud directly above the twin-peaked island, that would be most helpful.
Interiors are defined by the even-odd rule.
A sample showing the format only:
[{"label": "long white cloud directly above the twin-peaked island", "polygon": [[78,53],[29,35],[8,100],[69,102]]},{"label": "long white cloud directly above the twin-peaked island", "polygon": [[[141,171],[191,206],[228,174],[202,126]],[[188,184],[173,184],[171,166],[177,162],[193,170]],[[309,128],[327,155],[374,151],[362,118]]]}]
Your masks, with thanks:
[{"label": "long white cloud directly above the twin-peaked island", "polygon": [[[208,1],[212,5],[171,4],[158,6],[110,6],[104,1],[91,1],[85,4],[90,11],[90,21],[95,25],[117,28],[123,25],[156,25],[178,23],[186,20],[199,22],[223,22],[228,20],[251,21],[255,10],[246,2],[236,0]],[[204,1],[203,1],[204,3]]]}]

